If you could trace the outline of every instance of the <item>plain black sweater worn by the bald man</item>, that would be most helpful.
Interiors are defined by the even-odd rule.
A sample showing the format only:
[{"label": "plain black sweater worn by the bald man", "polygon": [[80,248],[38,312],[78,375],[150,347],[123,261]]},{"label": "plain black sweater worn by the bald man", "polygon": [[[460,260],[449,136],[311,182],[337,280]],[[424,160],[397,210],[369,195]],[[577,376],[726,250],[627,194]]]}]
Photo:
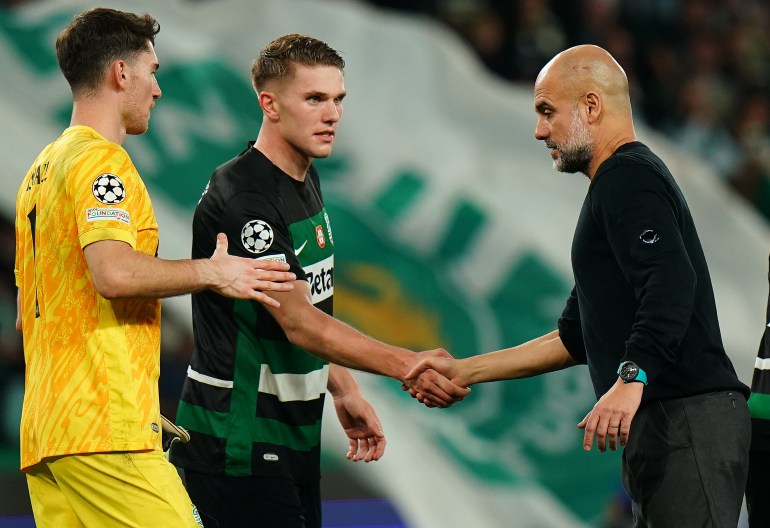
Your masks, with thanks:
[{"label": "plain black sweater worn by the bald man", "polygon": [[559,319],[569,353],[588,365],[597,398],[630,360],[643,401],[748,387],[722,345],[706,259],[666,165],[640,142],[598,168],[572,242],[575,287]]}]

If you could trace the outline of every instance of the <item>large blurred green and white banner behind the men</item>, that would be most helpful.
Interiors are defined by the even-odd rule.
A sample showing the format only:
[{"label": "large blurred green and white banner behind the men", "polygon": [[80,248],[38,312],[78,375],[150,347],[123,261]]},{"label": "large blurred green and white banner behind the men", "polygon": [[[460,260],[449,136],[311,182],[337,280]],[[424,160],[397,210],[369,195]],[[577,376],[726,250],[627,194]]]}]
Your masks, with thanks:
[{"label": "large blurred green and white banner behind the men", "polygon": [[[442,27],[351,1],[104,1],[148,11],[163,97],[150,131],[125,144],[147,182],[161,256],[186,257],[192,211],[212,170],[256,137],[249,79],[285,33],[329,42],[347,62],[334,154],[317,163],[337,255],[337,315],[412,349],[469,356],[555,328],[572,286],[569,253],[588,187],[553,171],[533,138],[531,86],[495,80]],[[13,211],[36,154],[67,126],[54,40],[85,1],[0,11],[0,207]],[[699,226],[736,369],[751,376],[765,322],[768,229],[697,160],[638,127],[669,163]],[[189,317],[185,298],[167,309]],[[595,398],[583,367],[476,386],[426,409],[393,380],[358,376],[383,419],[387,454],[350,465],[414,528],[596,525],[619,485],[618,453],[582,451]],[[336,419],[325,448],[342,458]]]}]

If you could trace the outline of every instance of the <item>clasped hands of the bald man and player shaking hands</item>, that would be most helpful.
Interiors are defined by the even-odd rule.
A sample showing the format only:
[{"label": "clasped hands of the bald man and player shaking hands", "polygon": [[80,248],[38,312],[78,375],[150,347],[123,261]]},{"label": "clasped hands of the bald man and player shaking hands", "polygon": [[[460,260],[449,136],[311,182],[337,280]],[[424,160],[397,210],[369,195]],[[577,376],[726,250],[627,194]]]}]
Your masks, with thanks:
[{"label": "clasped hands of the bald man and player shaking hands", "polygon": [[415,354],[415,363],[404,377],[403,390],[427,407],[449,407],[470,394],[467,384],[458,383],[455,360],[443,348]]}]

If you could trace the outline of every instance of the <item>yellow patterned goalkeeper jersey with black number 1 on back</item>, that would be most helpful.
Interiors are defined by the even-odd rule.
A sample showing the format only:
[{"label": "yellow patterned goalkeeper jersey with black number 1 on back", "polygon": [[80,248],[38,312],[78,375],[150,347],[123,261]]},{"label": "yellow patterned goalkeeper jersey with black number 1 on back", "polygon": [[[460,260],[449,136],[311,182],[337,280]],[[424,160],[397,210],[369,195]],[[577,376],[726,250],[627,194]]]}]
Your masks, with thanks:
[{"label": "yellow patterned goalkeeper jersey with black number 1 on back", "polygon": [[156,255],[158,225],[128,153],[74,126],[38,156],[16,198],[22,470],[160,447],[160,301],[99,295],[83,248],[100,240]]}]

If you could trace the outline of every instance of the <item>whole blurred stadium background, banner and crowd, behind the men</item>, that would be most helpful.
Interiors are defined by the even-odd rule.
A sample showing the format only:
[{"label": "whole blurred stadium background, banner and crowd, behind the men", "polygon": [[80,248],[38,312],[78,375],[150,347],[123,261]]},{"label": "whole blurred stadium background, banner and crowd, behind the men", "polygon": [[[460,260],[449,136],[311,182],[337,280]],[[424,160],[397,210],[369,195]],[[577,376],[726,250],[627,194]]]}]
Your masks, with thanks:
[{"label": "whole blurred stadium background, banner and crowd, behind the men", "polygon": [[[28,511],[16,469],[23,361],[12,328],[13,199],[37,152],[69,120],[55,36],[95,5],[12,3],[0,11],[0,515]],[[637,132],[688,197],[725,343],[750,380],[770,240],[766,3],[100,5],[146,10],[161,22],[163,98],[150,132],[125,146],[150,187],[163,257],[189,254],[192,209],[211,169],[256,135],[248,71],[257,50],[288,32],[342,50],[345,116],[334,155],[318,163],[338,254],[336,311],[376,337],[456,356],[553,328],[571,286],[569,246],[587,180],[554,173],[533,139],[531,86],[564,47],[607,47],[629,73]],[[189,300],[167,302],[164,317],[163,407],[173,415],[190,350]],[[479,386],[447,411],[417,406],[392,380],[357,377],[383,419],[388,452],[377,464],[343,463],[345,442],[328,417],[329,526],[623,526],[619,457],[583,453],[575,428],[593,404],[583,368]]]}]

